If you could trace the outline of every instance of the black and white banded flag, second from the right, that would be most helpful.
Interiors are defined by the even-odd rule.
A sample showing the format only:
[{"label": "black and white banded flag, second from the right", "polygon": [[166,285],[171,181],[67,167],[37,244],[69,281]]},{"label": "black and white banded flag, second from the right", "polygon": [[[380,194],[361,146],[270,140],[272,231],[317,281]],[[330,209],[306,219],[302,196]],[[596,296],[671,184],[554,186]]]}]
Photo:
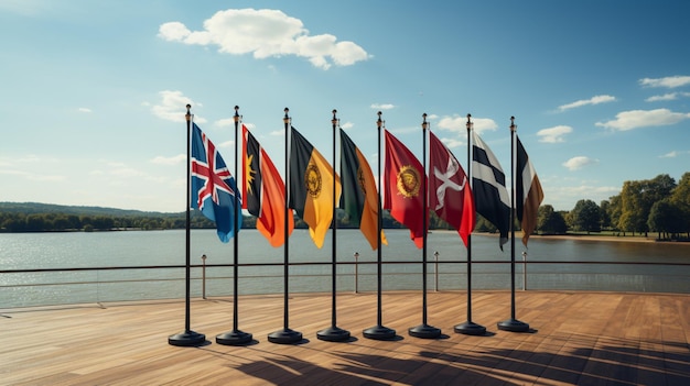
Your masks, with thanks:
[{"label": "black and white banded flag, second from the right", "polygon": [[472,132],[472,189],[474,205],[479,214],[493,223],[500,233],[498,246],[508,242],[510,229],[510,199],[506,189],[506,175],[490,148]]}]

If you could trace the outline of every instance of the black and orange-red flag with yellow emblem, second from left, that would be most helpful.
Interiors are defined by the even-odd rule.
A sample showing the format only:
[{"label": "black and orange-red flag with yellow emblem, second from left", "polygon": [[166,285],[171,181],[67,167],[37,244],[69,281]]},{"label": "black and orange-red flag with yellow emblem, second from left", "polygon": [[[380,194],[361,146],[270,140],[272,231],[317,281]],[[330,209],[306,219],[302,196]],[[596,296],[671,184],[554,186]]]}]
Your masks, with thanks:
[{"label": "black and orange-red flag with yellow emblem, second from left", "polygon": [[[271,246],[285,242],[285,185],[263,147],[242,124],[242,208],[257,217],[257,230]],[[288,216],[288,234],[294,220]]]}]

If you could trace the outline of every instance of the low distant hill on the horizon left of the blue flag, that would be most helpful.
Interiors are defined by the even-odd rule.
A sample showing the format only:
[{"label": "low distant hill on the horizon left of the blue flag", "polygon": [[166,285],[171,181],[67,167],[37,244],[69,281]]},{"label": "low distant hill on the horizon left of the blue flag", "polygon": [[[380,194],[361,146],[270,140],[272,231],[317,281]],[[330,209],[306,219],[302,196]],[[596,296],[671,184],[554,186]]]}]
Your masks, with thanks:
[{"label": "low distant hill on the horizon left of the blue flag", "polygon": [[179,217],[184,212],[179,213],[163,213],[163,212],[148,212],[133,209],[117,209],[117,208],[104,208],[104,207],[80,207],[80,206],[64,206],[55,203],[41,203],[41,202],[0,202],[0,211],[8,213],[61,213],[61,214],[75,214],[75,216],[111,216],[111,217]]}]

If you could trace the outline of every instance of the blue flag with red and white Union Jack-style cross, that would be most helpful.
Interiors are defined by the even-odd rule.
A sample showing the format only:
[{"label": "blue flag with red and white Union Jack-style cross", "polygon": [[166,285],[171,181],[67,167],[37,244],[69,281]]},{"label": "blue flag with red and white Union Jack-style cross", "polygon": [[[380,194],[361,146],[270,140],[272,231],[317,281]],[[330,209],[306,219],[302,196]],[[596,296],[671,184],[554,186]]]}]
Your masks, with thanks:
[{"label": "blue flag with red and white Union Jack-style cross", "polygon": [[208,136],[192,122],[192,208],[216,222],[218,238],[227,243],[242,224],[235,178]]}]

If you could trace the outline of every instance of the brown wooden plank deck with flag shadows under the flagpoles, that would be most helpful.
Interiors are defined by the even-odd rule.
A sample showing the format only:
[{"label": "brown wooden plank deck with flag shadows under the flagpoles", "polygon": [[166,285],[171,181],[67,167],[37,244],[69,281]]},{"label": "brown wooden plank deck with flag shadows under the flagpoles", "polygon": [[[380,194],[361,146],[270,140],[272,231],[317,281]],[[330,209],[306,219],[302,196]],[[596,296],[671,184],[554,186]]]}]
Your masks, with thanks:
[{"label": "brown wooden plank deck with flag shadows under the flagpoles", "polygon": [[690,385],[690,296],[627,293],[517,291],[517,319],[531,331],[507,332],[510,294],[474,291],[482,337],[459,334],[466,294],[428,295],[428,322],[440,339],[419,339],[420,293],[385,293],[382,321],[391,341],[370,340],[376,294],[338,294],[337,324],[347,342],[316,332],[331,326],[330,294],[293,295],[290,328],[298,344],[276,344],[283,297],[244,296],[245,346],[222,345],[233,328],[231,299],[192,300],[196,348],[173,346],[184,330],[184,300],[0,310],[2,385]]}]

